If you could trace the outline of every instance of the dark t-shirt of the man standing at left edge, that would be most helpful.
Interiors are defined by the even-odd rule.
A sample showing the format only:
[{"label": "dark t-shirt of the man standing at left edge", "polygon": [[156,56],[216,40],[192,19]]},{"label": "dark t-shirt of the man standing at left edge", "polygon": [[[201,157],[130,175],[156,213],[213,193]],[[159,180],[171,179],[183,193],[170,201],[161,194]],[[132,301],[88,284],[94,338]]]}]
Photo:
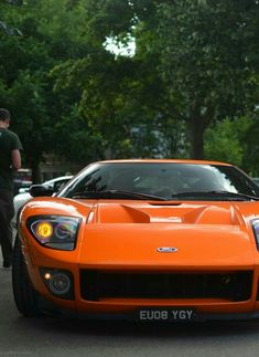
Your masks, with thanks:
[{"label": "dark t-shirt of the man standing at left edge", "polygon": [[22,150],[18,135],[0,128],[0,188],[12,191],[14,170],[12,169],[12,150]]}]

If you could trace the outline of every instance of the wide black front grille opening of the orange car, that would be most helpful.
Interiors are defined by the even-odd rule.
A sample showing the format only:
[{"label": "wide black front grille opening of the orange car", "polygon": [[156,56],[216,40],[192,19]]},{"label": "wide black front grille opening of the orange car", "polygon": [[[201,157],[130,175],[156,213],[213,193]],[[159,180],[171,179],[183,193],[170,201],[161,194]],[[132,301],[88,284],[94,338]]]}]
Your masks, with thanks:
[{"label": "wide black front grille opening of the orange car", "polygon": [[176,273],[80,271],[84,300],[114,298],[226,298],[247,301],[251,296],[252,272]]}]

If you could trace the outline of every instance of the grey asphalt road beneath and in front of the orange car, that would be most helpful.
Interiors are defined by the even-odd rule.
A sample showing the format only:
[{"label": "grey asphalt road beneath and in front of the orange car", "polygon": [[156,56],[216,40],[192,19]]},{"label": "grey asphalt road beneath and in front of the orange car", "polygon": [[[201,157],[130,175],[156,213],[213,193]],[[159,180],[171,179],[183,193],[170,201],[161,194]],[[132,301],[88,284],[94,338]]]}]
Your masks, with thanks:
[{"label": "grey asphalt road beneath and in front of the orange car", "polygon": [[0,267],[0,356],[257,357],[259,322],[144,325],[25,318],[13,302],[11,270]]}]

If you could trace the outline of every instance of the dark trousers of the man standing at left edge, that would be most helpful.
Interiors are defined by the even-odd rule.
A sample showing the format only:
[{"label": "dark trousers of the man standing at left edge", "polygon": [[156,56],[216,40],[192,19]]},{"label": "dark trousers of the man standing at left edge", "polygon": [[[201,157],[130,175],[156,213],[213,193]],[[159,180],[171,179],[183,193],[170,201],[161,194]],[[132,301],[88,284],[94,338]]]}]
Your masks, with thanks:
[{"label": "dark trousers of the man standing at left edge", "polygon": [[12,225],[14,216],[13,195],[11,191],[0,189],[0,244],[3,261],[12,260]]}]

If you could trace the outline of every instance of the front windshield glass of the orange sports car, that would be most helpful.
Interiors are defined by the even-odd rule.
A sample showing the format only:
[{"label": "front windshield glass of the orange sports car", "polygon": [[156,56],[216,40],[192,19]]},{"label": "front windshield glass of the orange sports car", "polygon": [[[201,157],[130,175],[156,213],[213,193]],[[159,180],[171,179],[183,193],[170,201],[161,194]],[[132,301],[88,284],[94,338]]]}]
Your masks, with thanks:
[{"label": "front windshield glass of the orange sports car", "polygon": [[251,200],[259,187],[236,167],[190,162],[97,162],[58,196],[147,200]]}]

